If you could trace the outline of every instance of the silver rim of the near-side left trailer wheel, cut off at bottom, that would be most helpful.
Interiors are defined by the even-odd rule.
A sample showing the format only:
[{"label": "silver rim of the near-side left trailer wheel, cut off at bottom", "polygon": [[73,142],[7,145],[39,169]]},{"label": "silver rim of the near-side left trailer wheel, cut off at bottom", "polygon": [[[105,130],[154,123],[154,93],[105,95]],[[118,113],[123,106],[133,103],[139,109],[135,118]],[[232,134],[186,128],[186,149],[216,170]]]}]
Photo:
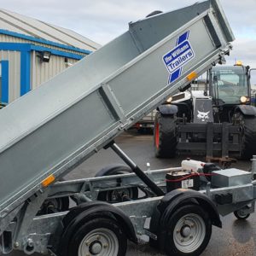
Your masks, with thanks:
[{"label": "silver rim of the near-side left trailer wheel, cut off at bottom", "polygon": [[112,230],[96,229],[90,231],[79,246],[78,256],[117,256],[119,241]]}]

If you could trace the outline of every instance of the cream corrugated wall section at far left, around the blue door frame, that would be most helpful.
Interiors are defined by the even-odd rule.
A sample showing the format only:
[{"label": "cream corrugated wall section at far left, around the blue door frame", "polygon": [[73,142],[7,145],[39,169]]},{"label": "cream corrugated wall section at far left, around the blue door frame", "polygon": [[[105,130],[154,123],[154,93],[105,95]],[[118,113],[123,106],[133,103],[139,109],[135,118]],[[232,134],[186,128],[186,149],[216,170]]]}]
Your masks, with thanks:
[{"label": "cream corrugated wall section at far left, around the blue door frame", "polygon": [[13,102],[20,96],[20,52],[0,50],[0,61],[9,61],[9,102]]}]

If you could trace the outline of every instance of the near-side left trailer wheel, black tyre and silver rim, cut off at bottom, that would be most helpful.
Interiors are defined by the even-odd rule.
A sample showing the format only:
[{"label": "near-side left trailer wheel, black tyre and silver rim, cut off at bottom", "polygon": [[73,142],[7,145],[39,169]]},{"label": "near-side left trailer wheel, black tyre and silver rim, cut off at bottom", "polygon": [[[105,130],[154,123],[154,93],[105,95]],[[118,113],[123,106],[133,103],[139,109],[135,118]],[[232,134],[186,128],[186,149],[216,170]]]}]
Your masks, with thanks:
[{"label": "near-side left trailer wheel, black tyre and silver rim, cut off at bottom", "polygon": [[[101,251],[92,252],[95,248]],[[95,218],[75,231],[68,242],[67,256],[124,256],[126,249],[127,238],[119,224],[113,218]]]}]

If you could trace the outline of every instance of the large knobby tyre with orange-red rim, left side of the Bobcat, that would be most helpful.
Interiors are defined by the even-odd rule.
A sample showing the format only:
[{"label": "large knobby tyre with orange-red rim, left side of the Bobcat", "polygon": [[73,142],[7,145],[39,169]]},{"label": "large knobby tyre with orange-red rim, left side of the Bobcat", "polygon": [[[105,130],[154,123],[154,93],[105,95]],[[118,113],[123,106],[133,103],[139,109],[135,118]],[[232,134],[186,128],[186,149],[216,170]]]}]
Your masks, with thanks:
[{"label": "large knobby tyre with orange-red rim, left side of the Bobcat", "polygon": [[154,154],[159,158],[173,158],[177,147],[177,119],[173,115],[155,114]]}]

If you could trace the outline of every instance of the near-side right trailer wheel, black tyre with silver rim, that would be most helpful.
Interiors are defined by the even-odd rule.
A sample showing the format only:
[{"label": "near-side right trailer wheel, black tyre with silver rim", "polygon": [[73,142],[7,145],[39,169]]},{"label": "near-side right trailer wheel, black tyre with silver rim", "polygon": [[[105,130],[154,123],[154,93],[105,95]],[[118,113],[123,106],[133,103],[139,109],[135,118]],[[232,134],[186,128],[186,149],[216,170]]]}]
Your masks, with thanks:
[{"label": "near-side right trailer wheel, black tyre with silver rim", "polygon": [[168,221],[165,242],[167,255],[200,255],[212,235],[212,222],[207,212],[197,205],[180,207]]}]

